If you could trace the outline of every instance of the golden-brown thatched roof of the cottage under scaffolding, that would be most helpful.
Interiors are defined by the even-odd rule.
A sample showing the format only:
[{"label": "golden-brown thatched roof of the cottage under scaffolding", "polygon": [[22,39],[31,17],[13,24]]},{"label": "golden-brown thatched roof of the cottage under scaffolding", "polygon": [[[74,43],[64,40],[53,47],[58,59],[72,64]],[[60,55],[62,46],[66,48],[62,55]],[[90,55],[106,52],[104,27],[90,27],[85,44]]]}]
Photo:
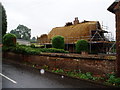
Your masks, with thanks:
[{"label": "golden-brown thatched roof of the cottage under scaffolding", "polygon": [[76,25],[53,28],[48,34],[48,39],[61,35],[65,38],[65,43],[75,43],[79,39],[89,40],[91,31],[97,29],[101,30],[98,21],[84,21]]}]

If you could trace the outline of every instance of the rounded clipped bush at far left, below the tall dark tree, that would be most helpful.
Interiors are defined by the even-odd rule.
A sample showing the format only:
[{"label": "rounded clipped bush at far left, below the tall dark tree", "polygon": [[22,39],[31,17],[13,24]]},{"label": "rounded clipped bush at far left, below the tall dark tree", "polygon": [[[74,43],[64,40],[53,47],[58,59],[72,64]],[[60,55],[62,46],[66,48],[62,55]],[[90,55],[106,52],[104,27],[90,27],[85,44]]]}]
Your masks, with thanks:
[{"label": "rounded clipped bush at far left, below the tall dark tree", "polygon": [[3,36],[3,45],[10,47],[16,46],[16,36],[11,33],[7,33]]}]

